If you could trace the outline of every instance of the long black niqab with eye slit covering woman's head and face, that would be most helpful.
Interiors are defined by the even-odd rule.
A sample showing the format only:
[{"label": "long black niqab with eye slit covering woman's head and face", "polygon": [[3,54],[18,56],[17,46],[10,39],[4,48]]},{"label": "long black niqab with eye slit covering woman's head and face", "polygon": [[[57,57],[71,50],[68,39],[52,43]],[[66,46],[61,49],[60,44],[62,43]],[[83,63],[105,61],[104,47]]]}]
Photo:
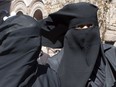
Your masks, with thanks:
[{"label": "long black niqab with eye slit covering woman's head and face", "polygon": [[[72,17],[64,37],[64,54],[58,69],[61,87],[85,87],[96,60],[101,57],[97,10],[96,6],[81,2],[66,5],[56,13]],[[77,27],[85,24],[92,26],[82,30]]]}]

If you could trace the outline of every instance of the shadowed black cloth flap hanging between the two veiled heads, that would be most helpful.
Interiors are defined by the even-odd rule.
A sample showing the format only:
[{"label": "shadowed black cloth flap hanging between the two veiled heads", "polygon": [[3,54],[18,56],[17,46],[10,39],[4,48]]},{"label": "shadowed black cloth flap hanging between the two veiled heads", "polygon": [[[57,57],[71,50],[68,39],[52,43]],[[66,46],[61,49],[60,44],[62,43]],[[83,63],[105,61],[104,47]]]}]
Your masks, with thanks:
[{"label": "shadowed black cloth flap hanging between the two veiled heads", "polygon": [[50,16],[46,19],[39,20],[41,26],[42,45],[51,48],[62,48],[64,35],[67,32],[67,25],[61,22],[57,23]]}]

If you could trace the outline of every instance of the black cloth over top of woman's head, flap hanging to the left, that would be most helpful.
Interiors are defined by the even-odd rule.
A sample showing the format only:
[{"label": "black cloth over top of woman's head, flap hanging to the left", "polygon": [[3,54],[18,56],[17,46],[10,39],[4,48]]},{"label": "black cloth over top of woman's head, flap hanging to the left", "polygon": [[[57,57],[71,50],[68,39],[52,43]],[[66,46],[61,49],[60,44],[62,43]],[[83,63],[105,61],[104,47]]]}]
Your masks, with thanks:
[{"label": "black cloth over top of woman's head, flap hanging to the left", "polygon": [[72,19],[79,19],[79,22],[81,20],[83,22],[83,19],[96,21],[97,10],[98,8],[90,3],[80,2],[67,4],[59,11],[50,14],[47,20],[43,20],[44,23],[40,22],[43,24],[41,27],[42,44],[48,47],[62,48],[64,36]]}]

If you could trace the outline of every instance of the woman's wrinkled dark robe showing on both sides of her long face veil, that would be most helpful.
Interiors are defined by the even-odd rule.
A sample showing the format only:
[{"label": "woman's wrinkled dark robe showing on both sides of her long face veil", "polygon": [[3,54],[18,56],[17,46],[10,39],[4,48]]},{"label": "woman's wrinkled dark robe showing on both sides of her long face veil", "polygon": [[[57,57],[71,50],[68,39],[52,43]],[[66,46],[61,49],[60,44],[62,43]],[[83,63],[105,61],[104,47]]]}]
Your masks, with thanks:
[{"label": "woman's wrinkled dark robe showing on both sides of her long face veil", "polygon": [[[97,59],[92,75],[84,87],[115,87],[116,85],[116,47],[108,44],[102,45],[106,56],[105,63],[102,58]],[[47,63],[49,64],[49,67],[37,80],[39,87],[61,87],[58,68],[63,54],[64,49],[53,57],[48,58]],[[45,65],[41,66],[45,67]]]}]

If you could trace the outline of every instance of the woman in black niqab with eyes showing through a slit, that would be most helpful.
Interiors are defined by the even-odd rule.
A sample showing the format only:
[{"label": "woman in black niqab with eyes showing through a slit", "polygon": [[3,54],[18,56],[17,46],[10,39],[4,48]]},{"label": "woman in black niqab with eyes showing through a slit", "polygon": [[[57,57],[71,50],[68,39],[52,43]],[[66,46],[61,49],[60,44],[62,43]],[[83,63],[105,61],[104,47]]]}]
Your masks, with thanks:
[{"label": "woman in black niqab with eyes showing through a slit", "polygon": [[[58,87],[114,86],[116,48],[102,44],[97,10],[93,4],[80,2],[68,4],[49,15],[54,23],[68,26],[66,29],[59,28],[64,33],[61,42],[63,50],[48,59],[48,64],[58,77]],[[52,37],[47,39],[52,42]]]}]

